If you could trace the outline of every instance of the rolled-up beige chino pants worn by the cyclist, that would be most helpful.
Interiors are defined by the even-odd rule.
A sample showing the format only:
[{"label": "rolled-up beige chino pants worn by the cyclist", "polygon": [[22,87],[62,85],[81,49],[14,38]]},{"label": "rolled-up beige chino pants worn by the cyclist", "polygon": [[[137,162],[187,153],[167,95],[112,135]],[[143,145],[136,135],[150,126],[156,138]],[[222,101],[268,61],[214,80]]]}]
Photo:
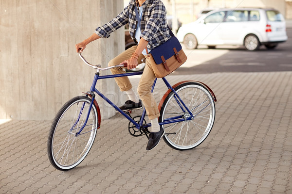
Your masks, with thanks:
[{"label": "rolled-up beige chino pants worn by the cyclist", "polygon": [[[110,60],[109,66],[119,65],[123,61],[129,59],[136,49],[137,49],[137,46],[133,46],[125,50],[124,52],[116,56],[114,59]],[[140,54],[138,58],[138,64],[142,63],[141,59],[143,59],[144,57],[147,58],[147,56]],[[110,71],[112,74],[126,73],[122,67],[112,68],[110,69]],[[118,86],[120,87],[121,91],[127,91],[132,88],[132,84],[129,81],[128,77],[119,77],[119,78],[114,78],[114,79],[116,83],[118,84]],[[154,80],[155,80],[155,74],[152,70],[149,60],[146,60],[145,69],[139,81],[137,91],[138,91],[139,97],[141,98],[146,108],[146,113],[148,114],[149,119],[155,119],[160,116],[157,104],[155,102],[153,94],[151,93],[151,87],[153,85]]]}]

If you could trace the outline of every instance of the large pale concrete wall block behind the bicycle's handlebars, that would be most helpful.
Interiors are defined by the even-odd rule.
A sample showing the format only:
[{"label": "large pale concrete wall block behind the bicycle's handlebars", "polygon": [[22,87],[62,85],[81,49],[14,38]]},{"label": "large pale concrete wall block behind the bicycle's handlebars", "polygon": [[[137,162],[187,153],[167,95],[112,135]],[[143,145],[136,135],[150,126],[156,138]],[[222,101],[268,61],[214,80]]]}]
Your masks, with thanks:
[{"label": "large pale concrete wall block behind the bicycle's handlebars", "polygon": [[[54,118],[67,100],[90,89],[95,70],[81,61],[75,44],[120,13],[123,2],[0,0],[0,8],[0,119],[40,120]],[[124,48],[120,29],[89,44],[83,54],[90,63],[107,66]],[[113,79],[97,87],[117,101]],[[114,114],[100,106],[102,117]]]}]

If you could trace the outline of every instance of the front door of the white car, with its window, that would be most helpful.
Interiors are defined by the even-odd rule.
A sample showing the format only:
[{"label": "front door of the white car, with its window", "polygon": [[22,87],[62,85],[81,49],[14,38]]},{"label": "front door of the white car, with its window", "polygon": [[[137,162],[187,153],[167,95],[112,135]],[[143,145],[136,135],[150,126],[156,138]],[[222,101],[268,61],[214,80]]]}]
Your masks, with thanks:
[{"label": "front door of the white car, with its window", "polygon": [[217,11],[215,13],[210,13],[203,20],[202,29],[199,31],[198,42],[202,45],[218,45],[219,40],[219,25],[223,21],[225,16],[225,11]]}]

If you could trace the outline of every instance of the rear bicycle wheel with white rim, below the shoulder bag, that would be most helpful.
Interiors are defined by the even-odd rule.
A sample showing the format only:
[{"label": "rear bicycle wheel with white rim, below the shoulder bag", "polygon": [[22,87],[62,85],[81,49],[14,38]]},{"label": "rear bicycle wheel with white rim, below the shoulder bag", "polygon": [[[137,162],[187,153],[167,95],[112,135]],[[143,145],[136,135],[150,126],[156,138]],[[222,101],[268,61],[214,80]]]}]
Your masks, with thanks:
[{"label": "rear bicycle wheel with white rim, below the shoulder bag", "polygon": [[174,119],[185,119],[181,122],[164,124],[165,143],[177,150],[192,149],[199,146],[209,135],[215,120],[215,102],[201,83],[184,82],[174,88],[191,115],[179,102],[174,92],[170,92],[164,99],[160,109],[159,122]]}]

